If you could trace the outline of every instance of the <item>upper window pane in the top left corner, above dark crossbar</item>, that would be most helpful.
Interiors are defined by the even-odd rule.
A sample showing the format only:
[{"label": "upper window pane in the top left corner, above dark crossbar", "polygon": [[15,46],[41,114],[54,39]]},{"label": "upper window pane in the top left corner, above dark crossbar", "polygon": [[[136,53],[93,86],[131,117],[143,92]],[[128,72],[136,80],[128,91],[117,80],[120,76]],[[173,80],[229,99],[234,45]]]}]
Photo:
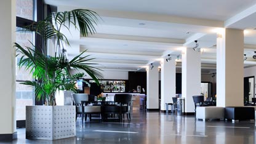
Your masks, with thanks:
[{"label": "upper window pane in the top left corner, above dark crossbar", "polygon": [[16,0],[16,16],[34,20],[34,0]]}]

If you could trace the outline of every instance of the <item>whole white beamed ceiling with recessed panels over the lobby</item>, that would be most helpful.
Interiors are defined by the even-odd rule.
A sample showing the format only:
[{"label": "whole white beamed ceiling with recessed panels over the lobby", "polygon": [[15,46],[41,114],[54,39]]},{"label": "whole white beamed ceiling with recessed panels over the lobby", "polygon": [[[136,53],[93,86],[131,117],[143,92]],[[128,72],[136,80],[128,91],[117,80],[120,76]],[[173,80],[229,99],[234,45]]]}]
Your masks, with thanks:
[{"label": "whole white beamed ceiling with recessed panels over the lobby", "polygon": [[[216,63],[217,28],[246,30],[245,66],[256,65],[256,1],[252,0],[45,0],[58,10],[91,9],[102,20],[97,34],[87,38],[73,36],[68,55],[87,49],[98,63],[108,70],[137,71],[159,65],[161,58],[177,57],[181,47],[194,47],[194,40],[204,49],[202,71],[212,73]],[[180,57],[182,58],[182,57]],[[180,62],[180,60],[178,60]],[[210,64],[210,65],[207,65]],[[180,66],[177,66],[180,67]]]}]

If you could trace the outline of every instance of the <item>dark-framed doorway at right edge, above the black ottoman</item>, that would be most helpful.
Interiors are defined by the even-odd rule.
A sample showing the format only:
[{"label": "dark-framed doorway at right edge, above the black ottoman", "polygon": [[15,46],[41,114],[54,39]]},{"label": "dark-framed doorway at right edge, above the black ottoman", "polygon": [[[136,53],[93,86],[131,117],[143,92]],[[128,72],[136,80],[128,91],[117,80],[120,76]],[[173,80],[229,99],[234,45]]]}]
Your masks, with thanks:
[{"label": "dark-framed doorway at right edge, above the black ottoman", "polygon": [[254,76],[244,78],[244,102],[252,102],[252,98],[255,97],[254,85]]}]

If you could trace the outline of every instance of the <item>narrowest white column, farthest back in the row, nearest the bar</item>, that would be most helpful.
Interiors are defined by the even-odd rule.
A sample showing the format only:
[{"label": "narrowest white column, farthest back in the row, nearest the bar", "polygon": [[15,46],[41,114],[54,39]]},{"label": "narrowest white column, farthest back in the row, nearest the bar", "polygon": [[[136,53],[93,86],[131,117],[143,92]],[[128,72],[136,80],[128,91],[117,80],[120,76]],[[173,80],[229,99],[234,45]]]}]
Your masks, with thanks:
[{"label": "narrowest white column, farthest back in the row, nearest the bar", "polygon": [[146,109],[159,109],[159,72],[158,67],[148,68],[146,71]]}]

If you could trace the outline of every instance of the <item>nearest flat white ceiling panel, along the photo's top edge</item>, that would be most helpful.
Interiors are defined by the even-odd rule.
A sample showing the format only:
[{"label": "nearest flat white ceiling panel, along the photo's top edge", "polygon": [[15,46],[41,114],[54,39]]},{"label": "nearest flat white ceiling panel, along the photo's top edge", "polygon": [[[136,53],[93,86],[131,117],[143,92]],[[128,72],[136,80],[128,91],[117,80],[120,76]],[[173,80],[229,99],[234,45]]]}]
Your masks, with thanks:
[{"label": "nearest flat white ceiling panel, along the photo's top edge", "polygon": [[47,0],[46,2],[57,6],[79,6],[209,20],[226,20],[255,4],[254,0]]}]

